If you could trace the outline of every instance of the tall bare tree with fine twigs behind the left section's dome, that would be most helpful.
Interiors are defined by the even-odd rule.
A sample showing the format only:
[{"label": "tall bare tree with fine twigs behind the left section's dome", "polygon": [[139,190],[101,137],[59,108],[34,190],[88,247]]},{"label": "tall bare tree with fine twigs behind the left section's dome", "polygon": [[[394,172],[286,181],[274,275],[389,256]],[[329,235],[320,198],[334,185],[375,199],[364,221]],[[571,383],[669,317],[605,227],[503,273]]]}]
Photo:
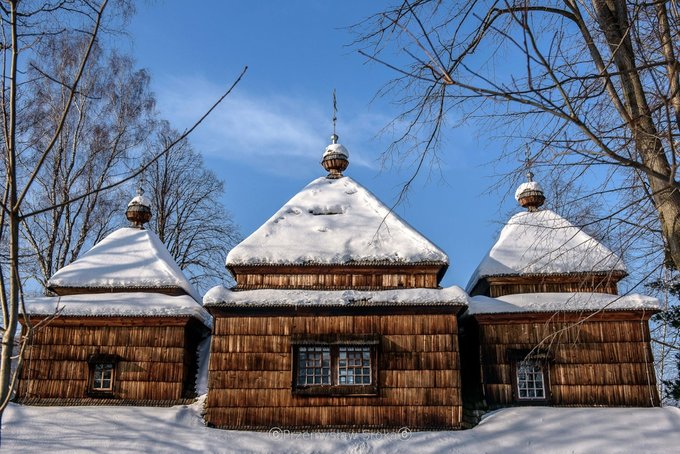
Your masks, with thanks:
[{"label": "tall bare tree with fine twigs behind the left section's dome", "polygon": [[[66,107],[67,83],[87,44],[73,35],[45,37],[29,63],[28,77],[34,82],[24,95],[22,130],[27,144],[21,159],[26,163],[38,159]],[[35,254],[24,267],[24,277],[30,274],[45,287],[84,245],[96,243],[116,226],[124,203],[121,194],[98,190],[139,159],[135,150],[152,130],[154,104],[145,71],[134,70],[128,57],[94,47],[61,134],[25,205],[30,211],[46,202],[60,205],[81,192],[92,194],[24,220],[23,234]]]}]

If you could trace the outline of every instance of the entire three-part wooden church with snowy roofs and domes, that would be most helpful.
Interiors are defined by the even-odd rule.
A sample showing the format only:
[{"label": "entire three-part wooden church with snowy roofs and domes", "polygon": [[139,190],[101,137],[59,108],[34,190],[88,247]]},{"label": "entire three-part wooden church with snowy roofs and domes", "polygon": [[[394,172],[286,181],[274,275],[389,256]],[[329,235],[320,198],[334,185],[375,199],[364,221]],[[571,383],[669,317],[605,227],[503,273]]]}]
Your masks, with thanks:
[{"label": "entire three-part wooden church with snowy roofs and domes", "polygon": [[621,259],[542,209],[531,173],[468,294],[440,286],[447,255],[344,175],[331,138],[328,174],[229,252],[236,285],[203,305],[135,197],[132,227],[55,273],[57,296],[27,300],[38,329],[16,400],[186,403],[212,328],[212,427],[457,429],[512,405],[659,405],[658,301],[619,294]]}]

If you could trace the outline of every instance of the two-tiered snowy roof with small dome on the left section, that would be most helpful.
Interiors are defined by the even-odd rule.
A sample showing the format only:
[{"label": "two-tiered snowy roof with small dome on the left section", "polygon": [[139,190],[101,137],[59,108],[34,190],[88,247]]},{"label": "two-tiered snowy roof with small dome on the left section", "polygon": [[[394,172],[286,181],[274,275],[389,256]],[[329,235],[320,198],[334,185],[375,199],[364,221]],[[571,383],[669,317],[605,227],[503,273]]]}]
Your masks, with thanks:
[{"label": "two-tiered snowy roof with small dome on the left section", "polygon": [[191,316],[209,327],[199,293],[160,238],[144,229],[151,216],[151,204],[140,190],[126,211],[133,227],[116,230],[54,273],[47,286],[60,296],[27,299],[28,313],[52,315],[58,309],[61,315],[84,317]]}]

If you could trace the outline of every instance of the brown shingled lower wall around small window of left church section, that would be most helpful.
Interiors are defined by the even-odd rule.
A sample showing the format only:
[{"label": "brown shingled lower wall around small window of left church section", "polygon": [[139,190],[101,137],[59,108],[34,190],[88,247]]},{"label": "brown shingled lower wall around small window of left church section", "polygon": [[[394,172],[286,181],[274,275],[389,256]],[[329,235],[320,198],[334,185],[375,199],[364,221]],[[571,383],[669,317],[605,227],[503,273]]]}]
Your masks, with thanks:
[{"label": "brown shingled lower wall around small window of left church section", "polygon": [[18,397],[87,397],[92,354],[120,357],[116,398],[185,397],[185,327],[52,325],[37,330],[25,352]]}]

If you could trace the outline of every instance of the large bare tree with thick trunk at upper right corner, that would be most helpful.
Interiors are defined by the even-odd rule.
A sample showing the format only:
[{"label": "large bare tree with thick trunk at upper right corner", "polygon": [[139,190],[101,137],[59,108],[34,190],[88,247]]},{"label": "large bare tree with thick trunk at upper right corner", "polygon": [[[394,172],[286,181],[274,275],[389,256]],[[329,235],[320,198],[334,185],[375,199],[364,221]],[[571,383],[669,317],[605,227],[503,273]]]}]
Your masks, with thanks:
[{"label": "large bare tree with thick trunk at upper right corner", "polygon": [[680,266],[677,3],[404,0],[359,27],[360,52],[397,76],[407,126],[391,151],[420,168],[447,121],[488,125]]}]

